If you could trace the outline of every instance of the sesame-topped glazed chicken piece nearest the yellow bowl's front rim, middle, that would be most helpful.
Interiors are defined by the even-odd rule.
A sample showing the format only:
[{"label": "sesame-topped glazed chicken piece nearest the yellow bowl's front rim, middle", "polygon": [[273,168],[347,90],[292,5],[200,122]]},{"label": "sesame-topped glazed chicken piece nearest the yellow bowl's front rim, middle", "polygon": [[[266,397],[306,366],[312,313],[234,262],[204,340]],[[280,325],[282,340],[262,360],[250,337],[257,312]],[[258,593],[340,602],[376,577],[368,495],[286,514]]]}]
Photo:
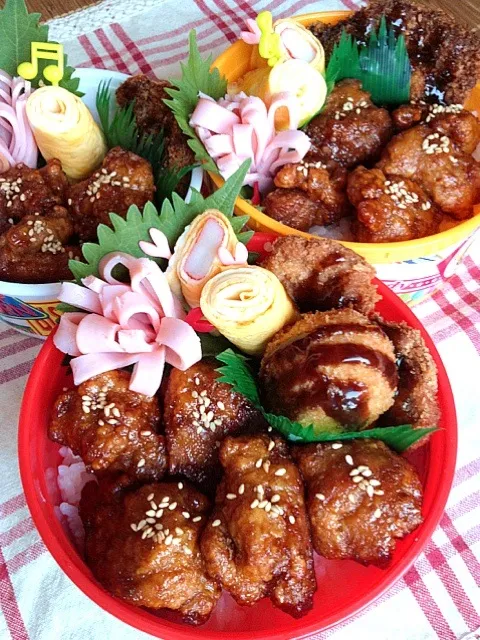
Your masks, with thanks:
[{"label": "sesame-topped glazed chicken piece nearest the yellow bowl's front rim, middle", "polygon": [[439,230],[441,212],[408,178],[357,167],[348,177],[347,193],[356,208],[353,227],[359,242],[415,240]]}]

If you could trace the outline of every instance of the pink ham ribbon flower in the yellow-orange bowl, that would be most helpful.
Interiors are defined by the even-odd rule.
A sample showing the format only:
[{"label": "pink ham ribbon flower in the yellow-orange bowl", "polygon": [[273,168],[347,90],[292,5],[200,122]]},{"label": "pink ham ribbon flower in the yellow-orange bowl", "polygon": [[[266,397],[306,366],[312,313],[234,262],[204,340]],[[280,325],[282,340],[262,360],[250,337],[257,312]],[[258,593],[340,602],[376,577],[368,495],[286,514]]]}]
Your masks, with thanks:
[{"label": "pink ham ribbon flower in the yellow-orange bowl", "polygon": [[[277,133],[275,113],[281,108],[288,112],[289,130]],[[257,96],[241,92],[218,102],[202,94],[190,125],[225,180],[250,159],[244,184],[258,182],[264,193],[273,186],[280,167],[301,162],[310,149],[309,137],[297,131],[298,121],[297,102],[292,95],[276,94],[267,108]]]}]

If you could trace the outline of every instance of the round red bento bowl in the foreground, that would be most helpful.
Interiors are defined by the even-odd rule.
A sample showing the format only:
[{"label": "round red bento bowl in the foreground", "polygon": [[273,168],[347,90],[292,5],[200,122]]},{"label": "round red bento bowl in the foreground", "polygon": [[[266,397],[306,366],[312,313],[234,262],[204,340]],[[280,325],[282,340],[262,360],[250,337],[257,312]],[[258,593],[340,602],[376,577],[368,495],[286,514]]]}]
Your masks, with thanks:
[{"label": "round red bento bowl in the foreground", "polygon": [[[405,321],[419,329],[435,359],[439,379],[441,429],[410,457],[424,486],[424,522],[398,543],[386,570],[363,567],[352,561],[325,560],[316,556],[318,590],[313,610],[294,620],[275,609],[269,600],[254,607],[239,607],[224,594],[210,621],[202,627],[189,627],[172,615],[160,617],[130,606],[107,593],[69,540],[54,513],[55,490],[48,486],[47,470],[59,464],[59,447],[47,438],[47,424],[53,402],[64,386],[71,386],[71,375],[62,367],[63,354],[52,337],[43,346],[25,390],[19,425],[20,473],[27,504],[45,545],[60,568],[89,598],[127,624],[163,640],[209,640],[305,638],[330,627],[378,598],[411,566],[437,526],[453,479],[457,449],[455,405],[445,368],[435,346],[410,309],[384,284],[377,281],[383,296],[377,310],[387,320]],[[50,472],[51,474],[51,472]],[[224,607],[227,607],[225,611]],[[228,612],[228,613],[227,613]]]}]

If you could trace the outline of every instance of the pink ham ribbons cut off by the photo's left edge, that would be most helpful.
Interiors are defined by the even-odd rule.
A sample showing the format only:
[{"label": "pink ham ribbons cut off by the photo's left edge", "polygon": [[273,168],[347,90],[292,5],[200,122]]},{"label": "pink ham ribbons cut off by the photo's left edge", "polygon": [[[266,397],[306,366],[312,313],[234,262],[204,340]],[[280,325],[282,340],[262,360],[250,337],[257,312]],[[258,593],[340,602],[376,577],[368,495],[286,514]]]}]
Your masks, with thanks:
[{"label": "pink ham ribbons cut off by the photo's left edge", "polygon": [[23,162],[34,169],[38,149],[27,119],[30,82],[0,71],[0,173]]}]

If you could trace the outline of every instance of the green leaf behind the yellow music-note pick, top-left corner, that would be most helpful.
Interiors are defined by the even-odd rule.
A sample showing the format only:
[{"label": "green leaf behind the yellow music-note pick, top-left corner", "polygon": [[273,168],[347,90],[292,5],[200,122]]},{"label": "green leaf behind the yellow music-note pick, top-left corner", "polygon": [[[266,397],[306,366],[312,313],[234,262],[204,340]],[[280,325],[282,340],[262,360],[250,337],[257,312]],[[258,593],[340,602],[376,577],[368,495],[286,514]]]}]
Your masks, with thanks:
[{"label": "green leaf behind the yellow music-note pick, top-left corner", "polygon": [[[6,0],[4,8],[0,10],[0,69],[11,76],[18,75],[18,65],[30,61],[32,42],[49,42],[48,26],[40,24],[41,17],[39,13],[29,13],[24,0]],[[32,80],[32,86],[38,87],[40,80],[49,84],[42,71],[50,62],[39,61],[38,74]],[[60,86],[81,97],[83,93],[78,91],[80,79],[72,78],[74,71],[73,67],[67,65],[65,56]]]}]

